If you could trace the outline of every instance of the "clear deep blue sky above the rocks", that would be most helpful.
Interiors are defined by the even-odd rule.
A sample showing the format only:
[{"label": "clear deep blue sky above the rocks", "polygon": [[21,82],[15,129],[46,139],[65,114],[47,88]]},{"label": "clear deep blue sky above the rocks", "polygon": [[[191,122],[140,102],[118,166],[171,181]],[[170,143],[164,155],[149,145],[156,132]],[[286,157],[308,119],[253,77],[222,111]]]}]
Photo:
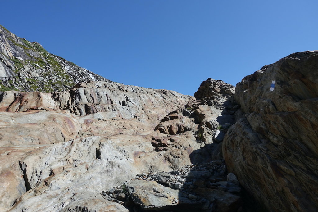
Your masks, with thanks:
[{"label": "clear deep blue sky above the rocks", "polygon": [[318,1],[2,1],[0,24],[107,79],[193,95],[318,49]]}]

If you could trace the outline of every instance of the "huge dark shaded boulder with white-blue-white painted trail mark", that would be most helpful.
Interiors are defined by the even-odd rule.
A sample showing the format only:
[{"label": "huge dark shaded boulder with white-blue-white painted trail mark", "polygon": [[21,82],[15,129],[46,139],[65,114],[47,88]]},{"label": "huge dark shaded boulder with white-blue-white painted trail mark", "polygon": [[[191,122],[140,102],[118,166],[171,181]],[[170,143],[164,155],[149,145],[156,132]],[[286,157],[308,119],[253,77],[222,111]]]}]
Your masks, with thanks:
[{"label": "huge dark shaded boulder with white-blue-white painted trail mark", "polygon": [[291,54],[242,79],[225,135],[230,172],[269,211],[318,207],[318,51]]}]

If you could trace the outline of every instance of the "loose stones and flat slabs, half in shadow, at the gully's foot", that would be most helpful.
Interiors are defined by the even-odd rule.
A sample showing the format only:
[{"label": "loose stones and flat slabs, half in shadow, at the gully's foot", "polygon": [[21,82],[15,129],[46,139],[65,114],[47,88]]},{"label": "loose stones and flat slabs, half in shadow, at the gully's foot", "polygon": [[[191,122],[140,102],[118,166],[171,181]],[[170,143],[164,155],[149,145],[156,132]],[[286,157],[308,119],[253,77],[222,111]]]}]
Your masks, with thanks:
[{"label": "loose stones and flat slabs, half in shadow, at the gully's foot", "polygon": [[110,191],[105,199],[130,211],[241,211],[241,188],[224,161],[191,164],[171,172],[142,173]]}]

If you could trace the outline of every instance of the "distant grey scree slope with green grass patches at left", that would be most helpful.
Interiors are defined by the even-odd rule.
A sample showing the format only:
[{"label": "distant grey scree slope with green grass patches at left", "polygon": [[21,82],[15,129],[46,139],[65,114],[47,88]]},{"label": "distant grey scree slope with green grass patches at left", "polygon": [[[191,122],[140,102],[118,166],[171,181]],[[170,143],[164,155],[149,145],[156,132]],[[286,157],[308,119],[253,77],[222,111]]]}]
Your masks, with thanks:
[{"label": "distant grey scree slope with green grass patches at left", "polygon": [[0,91],[65,91],[79,82],[109,80],[19,38],[0,25]]}]

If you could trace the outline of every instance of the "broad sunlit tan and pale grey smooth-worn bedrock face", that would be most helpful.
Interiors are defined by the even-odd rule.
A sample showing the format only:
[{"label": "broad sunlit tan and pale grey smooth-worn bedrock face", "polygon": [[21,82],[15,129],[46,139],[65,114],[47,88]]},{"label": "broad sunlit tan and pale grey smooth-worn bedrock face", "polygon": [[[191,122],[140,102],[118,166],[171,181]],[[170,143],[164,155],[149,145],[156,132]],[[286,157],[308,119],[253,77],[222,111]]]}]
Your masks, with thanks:
[{"label": "broad sunlit tan and pale grey smooth-worn bedrock face", "polygon": [[[208,111],[231,115],[224,105],[227,98],[196,100],[173,91],[113,82],[80,83],[65,92],[3,92],[1,210],[127,211],[123,202],[105,199],[102,191],[121,185],[138,173],[171,172],[192,163],[222,160],[221,144],[213,139],[217,130],[209,127],[223,126],[220,130],[226,132],[231,124]],[[207,125],[208,121],[203,120],[213,124]],[[220,168],[210,168],[210,178],[217,170],[226,174]],[[174,188],[167,189],[186,189],[183,183],[194,181],[188,175],[189,180],[184,175],[185,181],[176,185],[173,181]],[[151,179],[162,182],[163,177],[153,175]],[[209,192],[218,190],[219,185],[214,185],[212,178],[202,183],[213,186],[205,187]],[[175,189],[178,200],[180,189]],[[215,192],[228,196],[231,190],[227,189],[225,186]],[[199,190],[187,190],[187,198],[200,196]],[[121,194],[114,197],[117,201],[125,198]],[[200,201],[190,202],[197,205]],[[214,200],[208,202],[209,208]],[[221,207],[217,202],[211,207]],[[240,203],[235,205],[239,207]]]}]

